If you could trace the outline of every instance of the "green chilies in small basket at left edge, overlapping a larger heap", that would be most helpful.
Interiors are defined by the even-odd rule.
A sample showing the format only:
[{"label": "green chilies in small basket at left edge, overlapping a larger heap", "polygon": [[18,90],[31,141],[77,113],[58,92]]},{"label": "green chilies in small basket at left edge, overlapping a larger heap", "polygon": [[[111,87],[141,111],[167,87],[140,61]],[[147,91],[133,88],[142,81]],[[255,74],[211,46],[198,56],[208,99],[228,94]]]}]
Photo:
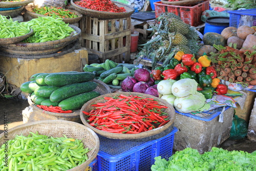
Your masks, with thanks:
[{"label": "green chilies in small basket at left edge, overlapping a larger heap", "polygon": [[17,21],[13,22],[12,18],[0,15],[0,38],[18,37],[28,34],[30,28],[23,26]]}]

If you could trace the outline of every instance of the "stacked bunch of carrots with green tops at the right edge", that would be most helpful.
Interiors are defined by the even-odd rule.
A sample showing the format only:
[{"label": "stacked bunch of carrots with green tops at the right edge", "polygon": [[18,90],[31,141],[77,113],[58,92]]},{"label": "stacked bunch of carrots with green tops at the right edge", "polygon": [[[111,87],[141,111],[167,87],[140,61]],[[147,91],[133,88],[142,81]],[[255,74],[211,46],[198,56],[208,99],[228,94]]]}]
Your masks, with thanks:
[{"label": "stacked bunch of carrots with green tops at the right edge", "polygon": [[215,45],[218,53],[212,54],[218,77],[244,86],[256,86],[256,50]]}]

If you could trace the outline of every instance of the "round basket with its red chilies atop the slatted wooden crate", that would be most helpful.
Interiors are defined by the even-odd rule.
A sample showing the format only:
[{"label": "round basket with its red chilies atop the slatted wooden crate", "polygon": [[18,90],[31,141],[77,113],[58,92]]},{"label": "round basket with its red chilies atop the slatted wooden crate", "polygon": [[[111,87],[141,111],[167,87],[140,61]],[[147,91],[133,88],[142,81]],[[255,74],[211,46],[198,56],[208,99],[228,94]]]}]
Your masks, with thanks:
[{"label": "round basket with its red chilies atop the slatted wooden crate", "polygon": [[76,11],[99,19],[130,17],[134,8],[130,5],[110,0],[71,0]]}]

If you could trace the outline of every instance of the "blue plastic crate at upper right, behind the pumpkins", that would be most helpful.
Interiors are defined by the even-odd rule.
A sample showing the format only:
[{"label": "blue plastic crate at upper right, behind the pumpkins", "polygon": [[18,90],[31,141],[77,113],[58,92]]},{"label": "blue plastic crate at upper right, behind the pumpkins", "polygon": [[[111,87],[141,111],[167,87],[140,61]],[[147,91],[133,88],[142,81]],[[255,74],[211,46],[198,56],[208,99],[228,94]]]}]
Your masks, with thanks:
[{"label": "blue plastic crate at upper right, behind the pumpkins", "polygon": [[229,15],[229,27],[238,28],[241,15],[250,15],[253,16],[253,19],[256,19],[256,9],[248,10],[234,10],[228,11]]}]

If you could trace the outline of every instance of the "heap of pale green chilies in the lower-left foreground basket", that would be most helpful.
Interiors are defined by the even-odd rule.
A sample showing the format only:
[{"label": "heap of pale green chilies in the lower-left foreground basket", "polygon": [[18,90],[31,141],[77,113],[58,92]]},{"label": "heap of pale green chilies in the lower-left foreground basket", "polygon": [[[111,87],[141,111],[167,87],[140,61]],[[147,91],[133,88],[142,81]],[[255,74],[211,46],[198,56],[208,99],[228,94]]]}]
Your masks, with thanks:
[{"label": "heap of pale green chilies in the lower-left foreground basket", "polygon": [[63,136],[16,135],[0,148],[0,170],[68,170],[88,160],[91,149],[84,148],[81,140]]}]

